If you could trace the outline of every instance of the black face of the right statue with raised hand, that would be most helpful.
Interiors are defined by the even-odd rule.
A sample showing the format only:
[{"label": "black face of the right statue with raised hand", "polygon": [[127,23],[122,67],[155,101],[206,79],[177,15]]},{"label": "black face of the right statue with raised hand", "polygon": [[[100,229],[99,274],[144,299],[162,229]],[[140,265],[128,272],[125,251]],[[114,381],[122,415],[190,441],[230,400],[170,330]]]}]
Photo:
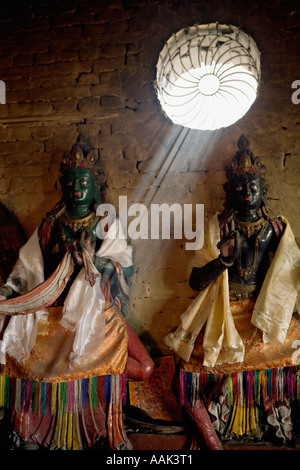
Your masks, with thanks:
[{"label": "black face of the right statue with raised hand", "polygon": [[257,210],[262,202],[263,187],[257,173],[241,173],[234,178],[232,201],[238,210]]}]

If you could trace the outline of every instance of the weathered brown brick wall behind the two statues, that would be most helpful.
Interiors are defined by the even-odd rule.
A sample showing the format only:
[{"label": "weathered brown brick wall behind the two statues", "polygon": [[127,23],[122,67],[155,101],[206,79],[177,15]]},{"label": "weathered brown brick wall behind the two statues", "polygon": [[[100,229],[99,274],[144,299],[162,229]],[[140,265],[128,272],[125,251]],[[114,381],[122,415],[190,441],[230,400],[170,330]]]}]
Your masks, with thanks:
[{"label": "weathered brown brick wall behind the two statues", "polygon": [[[158,105],[156,62],[172,33],[195,23],[231,23],[262,53],[260,94],[228,129],[186,132]],[[297,2],[249,0],[69,0],[1,2],[0,200],[29,235],[60,197],[59,162],[89,136],[108,177],[108,201],[205,204],[224,199],[224,168],[244,133],[268,167],[271,208],[299,223],[300,79]],[[137,240],[129,320],[154,350],[193,292],[194,253],[184,240]]]}]

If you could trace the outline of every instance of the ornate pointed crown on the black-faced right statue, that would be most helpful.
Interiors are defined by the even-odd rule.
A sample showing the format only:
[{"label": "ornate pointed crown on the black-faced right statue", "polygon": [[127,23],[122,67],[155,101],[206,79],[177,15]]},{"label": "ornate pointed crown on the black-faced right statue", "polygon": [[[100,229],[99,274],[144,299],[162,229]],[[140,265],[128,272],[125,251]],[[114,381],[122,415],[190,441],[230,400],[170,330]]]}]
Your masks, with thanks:
[{"label": "ornate pointed crown on the black-faced right statue", "polygon": [[254,156],[249,148],[249,141],[244,135],[239,138],[237,146],[239,150],[226,169],[228,180],[240,173],[258,173],[264,178],[266,168],[260,158]]}]

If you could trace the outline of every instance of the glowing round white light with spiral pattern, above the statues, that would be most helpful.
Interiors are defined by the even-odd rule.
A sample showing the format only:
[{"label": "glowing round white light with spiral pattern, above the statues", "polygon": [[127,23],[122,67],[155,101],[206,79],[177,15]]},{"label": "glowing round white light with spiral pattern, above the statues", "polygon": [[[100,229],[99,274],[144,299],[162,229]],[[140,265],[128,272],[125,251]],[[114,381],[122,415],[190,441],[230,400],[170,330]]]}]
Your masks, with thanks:
[{"label": "glowing round white light with spiral pattern, above the statues", "polygon": [[171,36],[156,69],[157,97],[171,121],[214,130],[238,121],[255,101],[260,52],[236,26],[195,25]]}]

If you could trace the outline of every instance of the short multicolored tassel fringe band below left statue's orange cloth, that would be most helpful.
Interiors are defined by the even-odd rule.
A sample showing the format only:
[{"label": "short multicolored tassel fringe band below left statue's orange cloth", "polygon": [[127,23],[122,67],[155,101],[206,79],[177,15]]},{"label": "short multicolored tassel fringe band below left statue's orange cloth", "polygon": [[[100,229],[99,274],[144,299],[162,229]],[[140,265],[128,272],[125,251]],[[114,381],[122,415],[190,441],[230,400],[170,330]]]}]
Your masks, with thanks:
[{"label": "short multicolored tassel fringe band below left statue's orange cloth", "polygon": [[70,382],[34,382],[0,376],[0,407],[17,412],[28,411],[37,416],[73,414],[81,408],[95,408],[97,403],[110,403],[111,383],[118,377],[118,400],[126,403],[126,375],[105,375]]}]

